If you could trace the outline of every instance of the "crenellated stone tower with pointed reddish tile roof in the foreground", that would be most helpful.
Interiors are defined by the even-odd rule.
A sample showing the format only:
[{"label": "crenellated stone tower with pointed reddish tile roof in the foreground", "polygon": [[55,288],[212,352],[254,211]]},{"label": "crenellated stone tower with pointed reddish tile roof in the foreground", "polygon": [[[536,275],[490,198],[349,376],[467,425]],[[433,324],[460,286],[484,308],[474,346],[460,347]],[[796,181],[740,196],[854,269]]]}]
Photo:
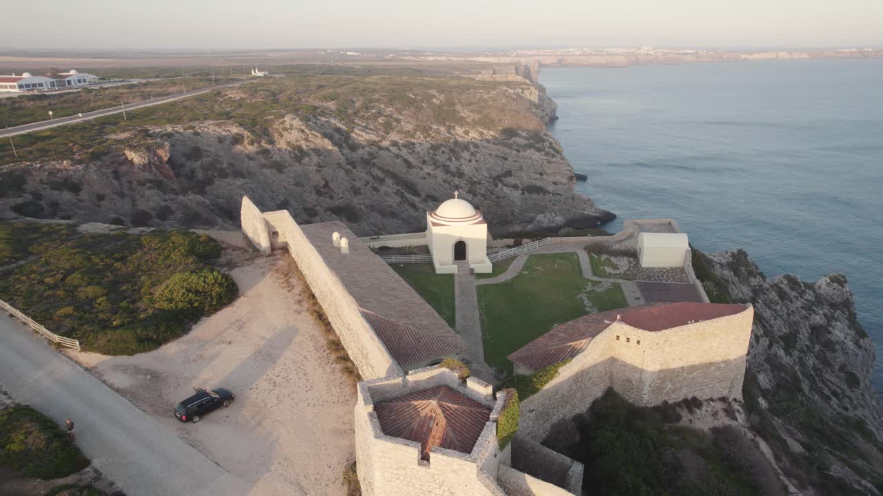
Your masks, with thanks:
[{"label": "crenellated stone tower with pointed reddish tile roof in the foreground", "polygon": [[[497,422],[506,404],[504,391],[494,397],[486,382],[462,381],[440,366],[359,382],[354,417],[362,494],[577,494],[581,463],[517,435],[501,447]],[[527,468],[533,458],[542,466],[535,475]]]}]

